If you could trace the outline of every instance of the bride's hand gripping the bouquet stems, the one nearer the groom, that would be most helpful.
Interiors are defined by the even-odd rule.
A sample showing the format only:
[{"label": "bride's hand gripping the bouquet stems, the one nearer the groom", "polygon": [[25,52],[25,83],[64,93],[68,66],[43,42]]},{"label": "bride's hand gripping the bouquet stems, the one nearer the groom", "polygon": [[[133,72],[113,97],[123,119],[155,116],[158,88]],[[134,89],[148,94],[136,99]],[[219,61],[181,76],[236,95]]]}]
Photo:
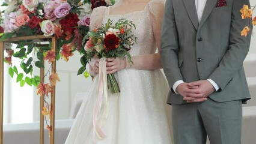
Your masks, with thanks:
[{"label": "bride's hand gripping the bouquet stems, the one nearer the groom", "polygon": [[126,68],[127,60],[126,58],[107,58],[106,59],[106,68],[107,74],[115,73],[116,71],[123,70]]}]

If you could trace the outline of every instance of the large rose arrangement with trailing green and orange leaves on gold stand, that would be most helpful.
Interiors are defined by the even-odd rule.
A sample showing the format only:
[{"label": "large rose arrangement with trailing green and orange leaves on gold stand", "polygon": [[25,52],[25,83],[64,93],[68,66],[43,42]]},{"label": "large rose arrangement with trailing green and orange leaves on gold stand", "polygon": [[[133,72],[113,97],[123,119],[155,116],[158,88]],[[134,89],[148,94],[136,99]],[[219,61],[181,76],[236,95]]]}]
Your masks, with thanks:
[{"label": "large rose arrangement with trailing green and orange leaves on gold stand", "polygon": [[[37,86],[37,94],[48,97],[51,87],[59,81],[58,74],[50,73],[52,62],[63,58],[69,61],[74,52],[85,53],[82,39],[89,31],[93,8],[112,5],[114,0],[5,0],[0,10],[0,39],[29,35],[44,35],[43,40],[16,41],[14,49],[5,47],[4,61],[10,64],[11,77],[17,75],[20,86]],[[57,49],[53,52],[51,37],[57,39]],[[45,39],[44,39],[45,40]],[[13,65],[12,58],[21,59],[19,65]],[[49,76],[49,83],[40,83],[44,77],[35,76],[33,68],[44,68],[43,61],[50,64],[44,77]],[[20,67],[20,70],[17,67]],[[19,71],[18,71],[19,70]],[[44,116],[50,116],[50,106],[45,101]],[[50,130],[50,126],[47,125]]]}]

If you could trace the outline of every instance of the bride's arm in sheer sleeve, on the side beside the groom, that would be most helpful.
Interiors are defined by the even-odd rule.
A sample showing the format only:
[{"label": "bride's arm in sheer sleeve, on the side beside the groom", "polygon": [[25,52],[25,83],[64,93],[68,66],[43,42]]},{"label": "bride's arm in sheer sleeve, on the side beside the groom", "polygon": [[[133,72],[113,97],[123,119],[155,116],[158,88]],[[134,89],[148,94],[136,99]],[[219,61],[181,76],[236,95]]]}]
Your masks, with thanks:
[{"label": "bride's arm in sheer sleeve, on the side beside the groom", "polygon": [[[161,27],[163,19],[163,9],[165,1],[152,0],[148,3],[150,11],[151,26],[153,28],[154,40],[160,52]],[[160,53],[150,55],[132,56],[133,65],[128,64],[127,68],[136,68],[142,70],[156,70],[162,68]]]}]

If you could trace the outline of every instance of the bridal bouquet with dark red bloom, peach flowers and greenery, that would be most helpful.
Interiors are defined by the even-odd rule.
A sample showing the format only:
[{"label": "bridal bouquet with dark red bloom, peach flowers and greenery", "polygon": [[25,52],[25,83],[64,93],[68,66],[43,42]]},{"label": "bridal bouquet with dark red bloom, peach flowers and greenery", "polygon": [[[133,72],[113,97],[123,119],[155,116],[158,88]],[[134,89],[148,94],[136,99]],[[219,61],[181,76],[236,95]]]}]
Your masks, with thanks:
[{"label": "bridal bouquet with dark red bloom, peach flowers and greenery", "polygon": [[[85,66],[92,58],[101,58],[105,63],[105,65],[100,65],[99,73],[101,71],[106,73],[106,58],[127,58],[129,64],[132,64],[128,51],[137,40],[132,34],[132,28],[136,28],[134,23],[127,19],[119,19],[114,25],[112,20],[108,19],[105,25],[89,31],[83,40],[84,43],[86,41],[85,54],[81,58],[83,67],[80,68],[78,74],[82,74],[86,70]],[[107,81],[111,92],[120,92],[114,74],[107,74]]]}]

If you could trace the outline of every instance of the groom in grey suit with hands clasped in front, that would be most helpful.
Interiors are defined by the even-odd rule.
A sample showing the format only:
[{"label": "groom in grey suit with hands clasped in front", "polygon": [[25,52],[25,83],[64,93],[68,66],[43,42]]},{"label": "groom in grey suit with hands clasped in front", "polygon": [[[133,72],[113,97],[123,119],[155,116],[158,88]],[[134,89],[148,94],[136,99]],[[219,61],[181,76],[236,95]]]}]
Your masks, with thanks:
[{"label": "groom in grey suit with hands clasped in front", "polygon": [[160,56],[174,144],[203,144],[206,136],[211,144],[241,143],[242,103],[250,99],[244,4],[249,0],[166,0]]}]

